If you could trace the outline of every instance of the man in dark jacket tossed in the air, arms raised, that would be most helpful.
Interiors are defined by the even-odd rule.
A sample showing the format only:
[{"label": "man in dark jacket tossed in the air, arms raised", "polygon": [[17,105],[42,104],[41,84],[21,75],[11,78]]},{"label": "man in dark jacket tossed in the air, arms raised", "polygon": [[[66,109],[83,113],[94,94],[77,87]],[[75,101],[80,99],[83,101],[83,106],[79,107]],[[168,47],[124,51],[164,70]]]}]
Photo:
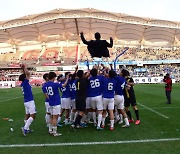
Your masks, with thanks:
[{"label": "man in dark jacket tossed in the air, arms raised", "polygon": [[92,58],[110,57],[108,47],[113,47],[112,37],[110,37],[110,43],[108,43],[106,40],[101,40],[101,35],[97,32],[94,34],[96,40],[86,41],[83,32],[81,32],[80,34],[82,42],[88,45],[87,48]]}]

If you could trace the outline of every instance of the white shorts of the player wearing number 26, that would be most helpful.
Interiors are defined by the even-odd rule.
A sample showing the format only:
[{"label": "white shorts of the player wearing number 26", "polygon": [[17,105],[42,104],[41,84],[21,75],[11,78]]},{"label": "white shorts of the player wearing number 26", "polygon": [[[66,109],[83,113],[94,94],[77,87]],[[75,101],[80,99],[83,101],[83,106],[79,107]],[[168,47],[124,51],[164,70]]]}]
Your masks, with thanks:
[{"label": "white shorts of the player wearing number 26", "polygon": [[90,101],[93,109],[103,110],[102,95],[91,97]]}]

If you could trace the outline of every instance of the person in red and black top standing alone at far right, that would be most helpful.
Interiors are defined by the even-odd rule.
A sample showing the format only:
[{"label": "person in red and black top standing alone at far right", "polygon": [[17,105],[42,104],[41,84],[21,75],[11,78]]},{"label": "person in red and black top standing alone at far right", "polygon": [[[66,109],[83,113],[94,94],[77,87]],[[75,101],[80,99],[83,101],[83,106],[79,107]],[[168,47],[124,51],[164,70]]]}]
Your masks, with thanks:
[{"label": "person in red and black top standing alone at far right", "polygon": [[165,90],[166,90],[166,98],[167,98],[167,103],[166,104],[171,104],[171,91],[172,91],[172,80],[167,73],[166,76],[164,76],[165,82]]}]

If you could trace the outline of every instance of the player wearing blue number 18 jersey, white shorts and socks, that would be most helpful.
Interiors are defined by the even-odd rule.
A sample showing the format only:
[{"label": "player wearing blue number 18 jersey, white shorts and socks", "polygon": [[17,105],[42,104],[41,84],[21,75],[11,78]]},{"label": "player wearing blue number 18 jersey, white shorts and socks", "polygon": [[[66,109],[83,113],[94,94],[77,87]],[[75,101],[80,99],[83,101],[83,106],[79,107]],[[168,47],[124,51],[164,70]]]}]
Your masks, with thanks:
[{"label": "player wearing blue number 18 jersey, white shorts and socks", "polygon": [[59,94],[59,89],[65,87],[68,83],[69,76],[67,77],[64,84],[62,83],[55,83],[56,73],[49,72],[49,81],[46,83],[45,86],[45,94],[49,98],[49,105],[50,105],[50,124],[49,124],[49,134],[53,136],[60,136],[62,134],[57,133],[57,120],[61,110],[61,99]]}]

